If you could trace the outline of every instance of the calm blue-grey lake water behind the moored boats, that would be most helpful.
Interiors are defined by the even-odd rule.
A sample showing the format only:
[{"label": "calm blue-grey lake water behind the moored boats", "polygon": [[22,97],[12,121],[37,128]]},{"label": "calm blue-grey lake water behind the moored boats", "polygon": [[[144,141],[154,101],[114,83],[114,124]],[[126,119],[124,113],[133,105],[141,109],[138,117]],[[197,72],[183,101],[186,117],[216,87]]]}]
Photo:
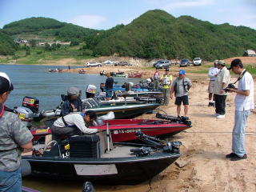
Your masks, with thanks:
[{"label": "calm blue-grey lake water behind the moored boats", "polygon": [[[67,68],[67,66],[58,66]],[[39,99],[40,110],[50,110],[61,102],[61,94],[66,94],[70,86],[76,86],[82,90],[82,98],[86,98],[86,86],[92,84],[97,86],[106,81],[106,76],[99,74],[74,74],[74,73],[50,73],[50,68],[56,66],[29,66],[29,65],[0,65],[0,72],[9,75],[14,84],[6,106],[14,107],[22,105],[25,96]],[[74,66],[72,66],[74,68]],[[114,78],[115,82],[122,84],[127,78]],[[138,82],[138,78],[129,78],[129,82]]]}]

